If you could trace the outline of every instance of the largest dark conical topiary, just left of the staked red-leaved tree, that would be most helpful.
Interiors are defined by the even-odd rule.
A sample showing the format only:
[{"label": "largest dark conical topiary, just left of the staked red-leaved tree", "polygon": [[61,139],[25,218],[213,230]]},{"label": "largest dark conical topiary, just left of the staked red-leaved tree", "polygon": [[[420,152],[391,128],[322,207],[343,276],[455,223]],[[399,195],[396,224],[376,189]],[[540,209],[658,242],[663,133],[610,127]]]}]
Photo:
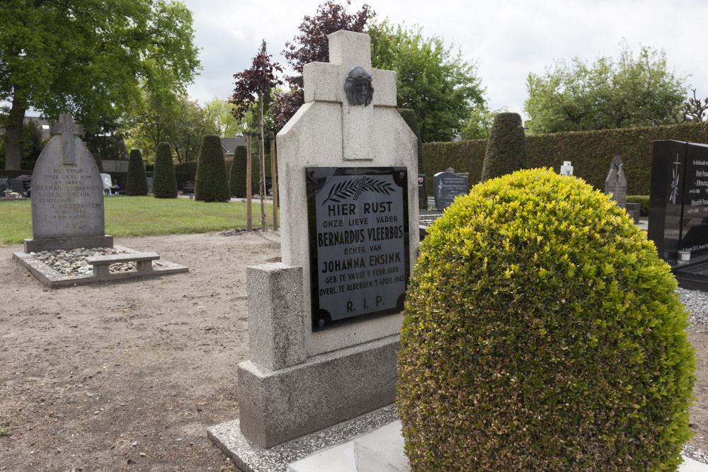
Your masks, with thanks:
[{"label": "largest dark conical topiary, just left of the staked red-leaved tree", "polygon": [[221,139],[214,134],[207,134],[202,138],[199,149],[194,198],[202,202],[228,202],[231,199],[230,193]]}]

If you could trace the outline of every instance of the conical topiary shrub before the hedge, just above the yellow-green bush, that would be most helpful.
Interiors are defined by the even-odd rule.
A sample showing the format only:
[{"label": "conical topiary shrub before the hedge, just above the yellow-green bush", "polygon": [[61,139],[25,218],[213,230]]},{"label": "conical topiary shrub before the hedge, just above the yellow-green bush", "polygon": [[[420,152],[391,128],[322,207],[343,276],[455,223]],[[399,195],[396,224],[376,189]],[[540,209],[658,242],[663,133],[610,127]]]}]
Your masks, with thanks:
[{"label": "conical topiary shrub before the hedge, just above the yellow-green bush", "polygon": [[529,168],[526,136],[518,113],[497,113],[487,139],[481,181]]}]

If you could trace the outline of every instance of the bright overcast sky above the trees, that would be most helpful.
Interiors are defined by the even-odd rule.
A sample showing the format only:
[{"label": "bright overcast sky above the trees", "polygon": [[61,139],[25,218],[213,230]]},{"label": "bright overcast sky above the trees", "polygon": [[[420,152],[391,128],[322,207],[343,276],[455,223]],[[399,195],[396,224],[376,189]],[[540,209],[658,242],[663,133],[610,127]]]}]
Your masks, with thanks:
[{"label": "bright overcast sky above the trees", "polygon": [[[190,96],[200,103],[230,96],[233,74],[251,67],[261,39],[275,61],[285,65],[285,42],[321,3],[185,0],[193,11],[204,68],[190,86]],[[542,74],[554,59],[618,57],[622,38],[634,52],[640,44],[665,50],[669,69],[691,74],[688,82],[698,95],[708,96],[706,0],[353,0],[348,10],[365,3],[377,13],[377,21],[418,24],[424,35],[459,46],[464,59],[476,62],[493,110],[506,106],[522,113],[530,72]]]}]

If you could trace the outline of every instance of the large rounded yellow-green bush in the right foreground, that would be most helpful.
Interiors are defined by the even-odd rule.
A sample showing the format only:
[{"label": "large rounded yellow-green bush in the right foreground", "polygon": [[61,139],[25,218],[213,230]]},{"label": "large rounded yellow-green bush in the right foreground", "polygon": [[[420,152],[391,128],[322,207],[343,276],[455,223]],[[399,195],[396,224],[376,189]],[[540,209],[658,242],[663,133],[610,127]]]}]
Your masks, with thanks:
[{"label": "large rounded yellow-green bush in the right foreground", "polygon": [[429,229],[401,329],[414,471],[675,470],[695,355],[676,282],[623,209],[549,169]]}]

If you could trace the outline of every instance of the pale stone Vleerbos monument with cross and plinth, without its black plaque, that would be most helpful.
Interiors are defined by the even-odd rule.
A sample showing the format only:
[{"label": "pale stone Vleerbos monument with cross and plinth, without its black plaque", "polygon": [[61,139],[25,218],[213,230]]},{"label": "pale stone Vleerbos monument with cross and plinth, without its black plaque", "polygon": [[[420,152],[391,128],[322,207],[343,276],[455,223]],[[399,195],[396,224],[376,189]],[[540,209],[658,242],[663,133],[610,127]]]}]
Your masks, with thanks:
[{"label": "pale stone Vleerbos monument with cross and plinth, without its black plaque", "polygon": [[[419,243],[417,140],[395,109],[395,72],[371,68],[368,35],[329,35],[329,57],[304,66],[305,103],[278,133],[282,263],[248,268],[251,360],[238,369],[240,434],[261,448],[395,398],[400,312],[313,331],[306,169],[404,168],[407,193],[397,195],[407,205],[412,269]],[[365,79],[354,81],[360,73]],[[350,96],[347,81],[355,84]]]}]

